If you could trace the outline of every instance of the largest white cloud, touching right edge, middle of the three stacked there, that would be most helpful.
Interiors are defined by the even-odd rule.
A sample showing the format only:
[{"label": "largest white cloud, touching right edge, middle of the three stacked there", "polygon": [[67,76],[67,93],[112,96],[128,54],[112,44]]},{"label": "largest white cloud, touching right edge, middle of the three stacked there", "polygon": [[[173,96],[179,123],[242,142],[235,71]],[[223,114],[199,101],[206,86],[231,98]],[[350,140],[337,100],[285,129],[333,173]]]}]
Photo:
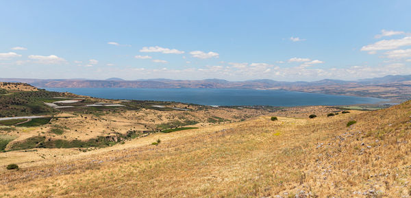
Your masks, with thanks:
[{"label": "largest white cloud, touching right edge, middle of the three stacked there", "polygon": [[401,39],[380,40],[371,45],[366,45],[361,48],[361,51],[377,51],[386,49],[397,49],[398,47],[411,45],[411,36]]}]

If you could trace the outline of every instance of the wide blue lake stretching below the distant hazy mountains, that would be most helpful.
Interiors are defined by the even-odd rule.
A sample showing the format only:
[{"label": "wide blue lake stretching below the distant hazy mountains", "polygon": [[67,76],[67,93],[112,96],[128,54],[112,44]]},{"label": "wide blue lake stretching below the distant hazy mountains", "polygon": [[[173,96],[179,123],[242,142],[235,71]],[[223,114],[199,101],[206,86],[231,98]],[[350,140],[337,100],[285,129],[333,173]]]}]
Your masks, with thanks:
[{"label": "wide blue lake stretching below the distant hazy mountains", "polygon": [[227,88],[45,88],[104,99],[177,101],[207,106],[336,106],[381,103],[386,99],[283,90]]}]

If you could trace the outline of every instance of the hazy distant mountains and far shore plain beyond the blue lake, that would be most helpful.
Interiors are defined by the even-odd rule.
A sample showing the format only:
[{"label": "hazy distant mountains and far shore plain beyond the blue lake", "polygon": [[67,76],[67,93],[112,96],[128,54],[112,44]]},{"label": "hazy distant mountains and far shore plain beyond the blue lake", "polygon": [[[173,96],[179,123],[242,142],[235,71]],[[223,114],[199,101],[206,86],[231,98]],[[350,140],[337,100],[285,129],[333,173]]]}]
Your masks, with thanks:
[{"label": "hazy distant mountains and far shore plain beyond the blue lake", "polygon": [[411,99],[411,75],[387,75],[356,81],[322,79],[314,82],[281,82],[272,79],[253,79],[230,82],[225,79],[175,80],[138,79],[21,79],[0,78],[0,82],[25,82],[39,88],[253,88],[322,92],[336,95],[355,95]]}]

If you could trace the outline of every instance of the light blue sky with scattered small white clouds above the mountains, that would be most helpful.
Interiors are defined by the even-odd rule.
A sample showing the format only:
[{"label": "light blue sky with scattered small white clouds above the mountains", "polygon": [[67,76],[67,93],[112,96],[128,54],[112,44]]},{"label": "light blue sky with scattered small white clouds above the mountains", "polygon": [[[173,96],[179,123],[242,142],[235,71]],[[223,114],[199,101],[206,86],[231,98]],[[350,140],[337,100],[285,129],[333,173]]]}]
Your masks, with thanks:
[{"label": "light blue sky with scattered small white clouds above the mountains", "polygon": [[0,77],[411,74],[411,1],[1,1]]}]

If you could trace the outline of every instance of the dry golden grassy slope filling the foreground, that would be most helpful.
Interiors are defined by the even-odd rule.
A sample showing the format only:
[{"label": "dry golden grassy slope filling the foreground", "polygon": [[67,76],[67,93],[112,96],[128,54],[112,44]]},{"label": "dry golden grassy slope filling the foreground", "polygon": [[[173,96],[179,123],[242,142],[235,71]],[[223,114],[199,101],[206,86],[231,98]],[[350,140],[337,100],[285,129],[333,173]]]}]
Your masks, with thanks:
[{"label": "dry golden grassy slope filling the foreground", "polygon": [[410,116],[406,102],[158,133],[3,169],[0,197],[409,197]]}]

